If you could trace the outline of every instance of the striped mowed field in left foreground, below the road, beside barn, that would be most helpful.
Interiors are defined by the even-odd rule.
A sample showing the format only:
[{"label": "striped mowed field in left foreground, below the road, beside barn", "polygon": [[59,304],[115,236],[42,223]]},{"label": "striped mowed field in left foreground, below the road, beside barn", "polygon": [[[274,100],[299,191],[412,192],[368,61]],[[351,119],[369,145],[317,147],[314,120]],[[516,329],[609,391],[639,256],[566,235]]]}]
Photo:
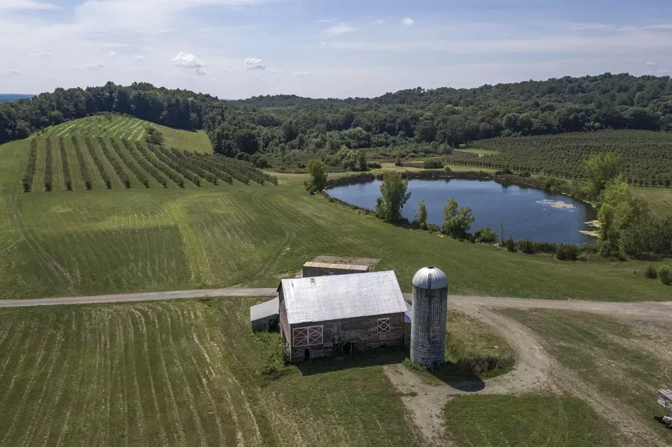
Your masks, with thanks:
[{"label": "striped mowed field in left foreground, below the road, beside barn", "polygon": [[380,365],[260,376],[255,302],[1,309],[0,446],[420,445]]}]

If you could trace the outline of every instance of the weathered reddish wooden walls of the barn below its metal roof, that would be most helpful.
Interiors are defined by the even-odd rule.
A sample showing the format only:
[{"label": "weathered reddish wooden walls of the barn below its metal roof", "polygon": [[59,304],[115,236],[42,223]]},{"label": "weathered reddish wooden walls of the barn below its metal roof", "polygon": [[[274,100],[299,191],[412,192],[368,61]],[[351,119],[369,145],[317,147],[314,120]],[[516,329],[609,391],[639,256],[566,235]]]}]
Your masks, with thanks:
[{"label": "weathered reddish wooden walls of the barn below its metal roof", "polygon": [[[405,324],[404,313],[393,313],[386,315],[372,315],[367,317],[357,317],[350,319],[333,319],[324,322],[313,322],[304,324],[287,325],[287,333],[295,328],[304,328],[309,326],[322,326],[322,344],[313,346],[290,346],[290,358],[292,363],[304,360],[305,350],[311,350],[311,359],[319,357],[329,357],[334,354],[334,346],[348,341],[359,342],[366,348],[379,348],[380,346],[398,346],[404,339]],[[389,318],[389,332],[378,332],[378,320]],[[285,311],[285,322],[287,322]],[[340,336],[333,331],[335,323],[341,324]],[[283,304],[280,304],[280,326],[283,326]],[[283,337],[285,339],[285,337]],[[287,337],[291,341],[291,337]]]}]

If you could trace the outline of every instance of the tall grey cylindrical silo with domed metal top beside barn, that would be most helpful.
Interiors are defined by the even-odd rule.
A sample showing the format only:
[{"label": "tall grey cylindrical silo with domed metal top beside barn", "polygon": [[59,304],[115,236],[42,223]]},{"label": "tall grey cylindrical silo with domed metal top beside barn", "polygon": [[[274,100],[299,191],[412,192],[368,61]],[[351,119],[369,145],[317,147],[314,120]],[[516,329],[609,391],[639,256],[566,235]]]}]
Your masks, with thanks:
[{"label": "tall grey cylindrical silo with domed metal top beside barn", "polygon": [[437,367],[446,355],[448,278],[441,269],[424,267],[413,276],[411,361]]}]

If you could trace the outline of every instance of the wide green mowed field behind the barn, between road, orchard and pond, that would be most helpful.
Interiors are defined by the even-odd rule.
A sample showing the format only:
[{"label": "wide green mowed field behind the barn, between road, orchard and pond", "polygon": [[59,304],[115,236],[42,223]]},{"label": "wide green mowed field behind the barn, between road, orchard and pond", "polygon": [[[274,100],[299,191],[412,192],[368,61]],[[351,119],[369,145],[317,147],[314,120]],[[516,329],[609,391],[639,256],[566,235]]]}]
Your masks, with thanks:
[{"label": "wide green mowed field behind the barn, between road, orchard and pond", "polygon": [[[377,268],[396,270],[405,291],[418,268],[438,265],[452,293],[669,299],[668,287],[643,278],[649,263],[566,263],[383,224],[307,194],[302,175],[280,174],[277,186],[234,180],[184,189],[146,189],[131,178],[130,189],[115,180],[92,191],[73,177],[74,191],[23,193],[29,145],[0,146],[1,298],[273,287],[311,258],[333,254],[381,259]],[[40,154],[35,184],[44,175]]]}]

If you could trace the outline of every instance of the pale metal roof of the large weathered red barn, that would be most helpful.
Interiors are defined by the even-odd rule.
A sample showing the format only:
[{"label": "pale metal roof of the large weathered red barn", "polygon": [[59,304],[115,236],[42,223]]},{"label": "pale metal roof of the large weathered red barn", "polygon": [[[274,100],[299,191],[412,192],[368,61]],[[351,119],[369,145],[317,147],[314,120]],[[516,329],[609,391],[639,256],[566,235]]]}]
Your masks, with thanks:
[{"label": "pale metal roof of the large weathered red barn", "polygon": [[406,312],[394,271],[284,279],[289,324]]}]

